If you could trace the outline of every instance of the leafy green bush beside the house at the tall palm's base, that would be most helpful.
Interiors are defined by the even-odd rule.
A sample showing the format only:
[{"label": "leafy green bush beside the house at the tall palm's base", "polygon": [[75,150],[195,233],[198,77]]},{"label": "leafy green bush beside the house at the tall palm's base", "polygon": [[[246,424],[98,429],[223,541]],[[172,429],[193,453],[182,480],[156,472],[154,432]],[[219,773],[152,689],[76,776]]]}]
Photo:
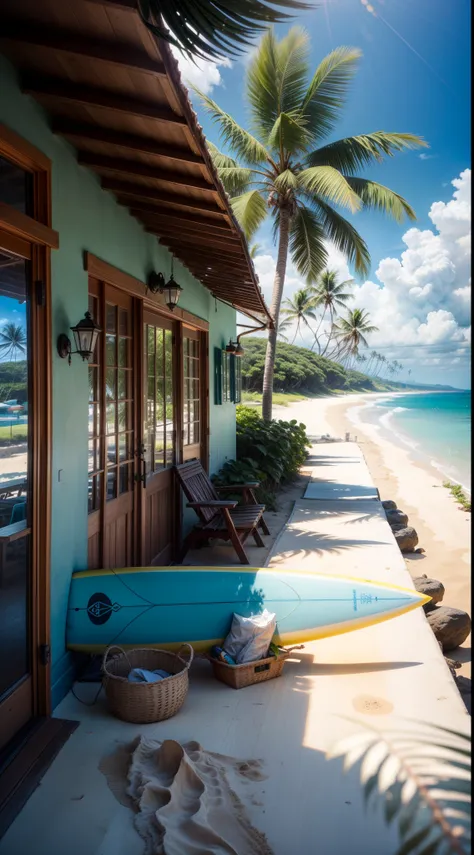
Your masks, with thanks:
[{"label": "leafy green bush beside the house at the tall palm's base", "polygon": [[228,460],[213,480],[217,486],[259,481],[259,501],[274,508],[276,490],[296,477],[309,445],[296,419],[264,422],[252,407],[238,406],[237,460]]}]

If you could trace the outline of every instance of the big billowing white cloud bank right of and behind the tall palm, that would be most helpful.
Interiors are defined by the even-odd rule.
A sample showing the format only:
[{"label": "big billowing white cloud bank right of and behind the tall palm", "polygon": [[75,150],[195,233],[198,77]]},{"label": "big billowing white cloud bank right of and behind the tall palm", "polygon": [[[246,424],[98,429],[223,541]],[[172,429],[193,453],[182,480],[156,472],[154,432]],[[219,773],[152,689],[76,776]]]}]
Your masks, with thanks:
[{"label": "big billowing white cloud bank right of and behind the tall palm", "polygon": [[[431,366],[433,382],[437,382],[436,366],[444,368],[451,357],[466,365],[471,340],[471,170],[464,170],[452,185],[454,192],[448,202],[431,205],[429,217],[434,228],[408,229],[401,255],[382,259],[374,280],[354,287],[351,303],[353,308],[366,309],[379,328],[370,336],[371,348],[384,348],[389,358],[399,359],[407,367]],[[351,278],[344,257],[333,247],[328,251],[328,266],[341,278]],[[255,266],[269,303],[275,259],[269,253],[257,256]],[[303,286],[289,264],[285,296]],[[312,343],[310,335],[305,343]],[[385,350],[387,347],[390,351]]]}]

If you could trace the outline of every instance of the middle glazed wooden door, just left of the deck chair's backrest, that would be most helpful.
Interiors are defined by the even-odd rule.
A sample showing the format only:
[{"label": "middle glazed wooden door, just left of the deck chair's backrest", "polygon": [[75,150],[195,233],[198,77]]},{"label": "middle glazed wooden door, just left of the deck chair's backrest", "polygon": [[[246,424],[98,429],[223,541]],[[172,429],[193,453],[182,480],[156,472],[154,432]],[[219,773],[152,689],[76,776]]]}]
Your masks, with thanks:
[{"label": "middle glazed wooden door, just left of the deck chair's backrest", "polygon": [[142,561],[166,565],[180,528],[172,467],[178,462],[180,389],[177,323],[143,314]]}]

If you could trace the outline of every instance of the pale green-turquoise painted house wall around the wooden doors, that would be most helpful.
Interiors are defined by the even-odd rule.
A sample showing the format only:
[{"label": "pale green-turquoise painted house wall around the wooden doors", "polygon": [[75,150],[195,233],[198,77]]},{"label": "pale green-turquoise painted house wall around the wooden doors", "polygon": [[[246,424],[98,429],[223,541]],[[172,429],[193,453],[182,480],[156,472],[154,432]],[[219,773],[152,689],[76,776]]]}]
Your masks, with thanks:
[{"label": "pale green-turquoise painted house wall around the wooden doors", "polygon": [[[66,608],[71,573],[87,566],[87,367],[78,358],[68,366],[56,353],[56,339],[87,310],[87,273],[83,252],[138,279],[150,269],[170,269],[170,254],[148,235],[99,180],[78,165],[73,148],[49,130],[46,114],[23,95],[13,67],[0,56],[0,121],[27,139],[52,161],[52,226],[60,248],[52,252],[53,455],[51,532],[51,648],[55,705],[72,677],[65,649]],[[210,378],[214,347],[235,337],[235,311],[217,308],[210,293],[179,263],[175,276],[183,286],[180,306],[208,320]],[[235,407],[214,406],[210,379],[210,466],[215,471],[235,456]]]}]

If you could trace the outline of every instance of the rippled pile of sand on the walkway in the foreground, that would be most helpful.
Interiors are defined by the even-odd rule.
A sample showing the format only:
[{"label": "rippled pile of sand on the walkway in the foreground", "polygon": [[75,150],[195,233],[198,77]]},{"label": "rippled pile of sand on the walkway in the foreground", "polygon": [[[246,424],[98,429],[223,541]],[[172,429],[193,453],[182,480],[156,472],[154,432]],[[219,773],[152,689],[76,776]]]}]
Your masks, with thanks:
[{"label": "rippled pile of sand on the walkway in the foreground", "polygon": [[259,760],[236,760],[139,736],[100,764],[117,800],[131,803],[144,855],[272,855],[230,784],[232,776],[264,780]]}]

